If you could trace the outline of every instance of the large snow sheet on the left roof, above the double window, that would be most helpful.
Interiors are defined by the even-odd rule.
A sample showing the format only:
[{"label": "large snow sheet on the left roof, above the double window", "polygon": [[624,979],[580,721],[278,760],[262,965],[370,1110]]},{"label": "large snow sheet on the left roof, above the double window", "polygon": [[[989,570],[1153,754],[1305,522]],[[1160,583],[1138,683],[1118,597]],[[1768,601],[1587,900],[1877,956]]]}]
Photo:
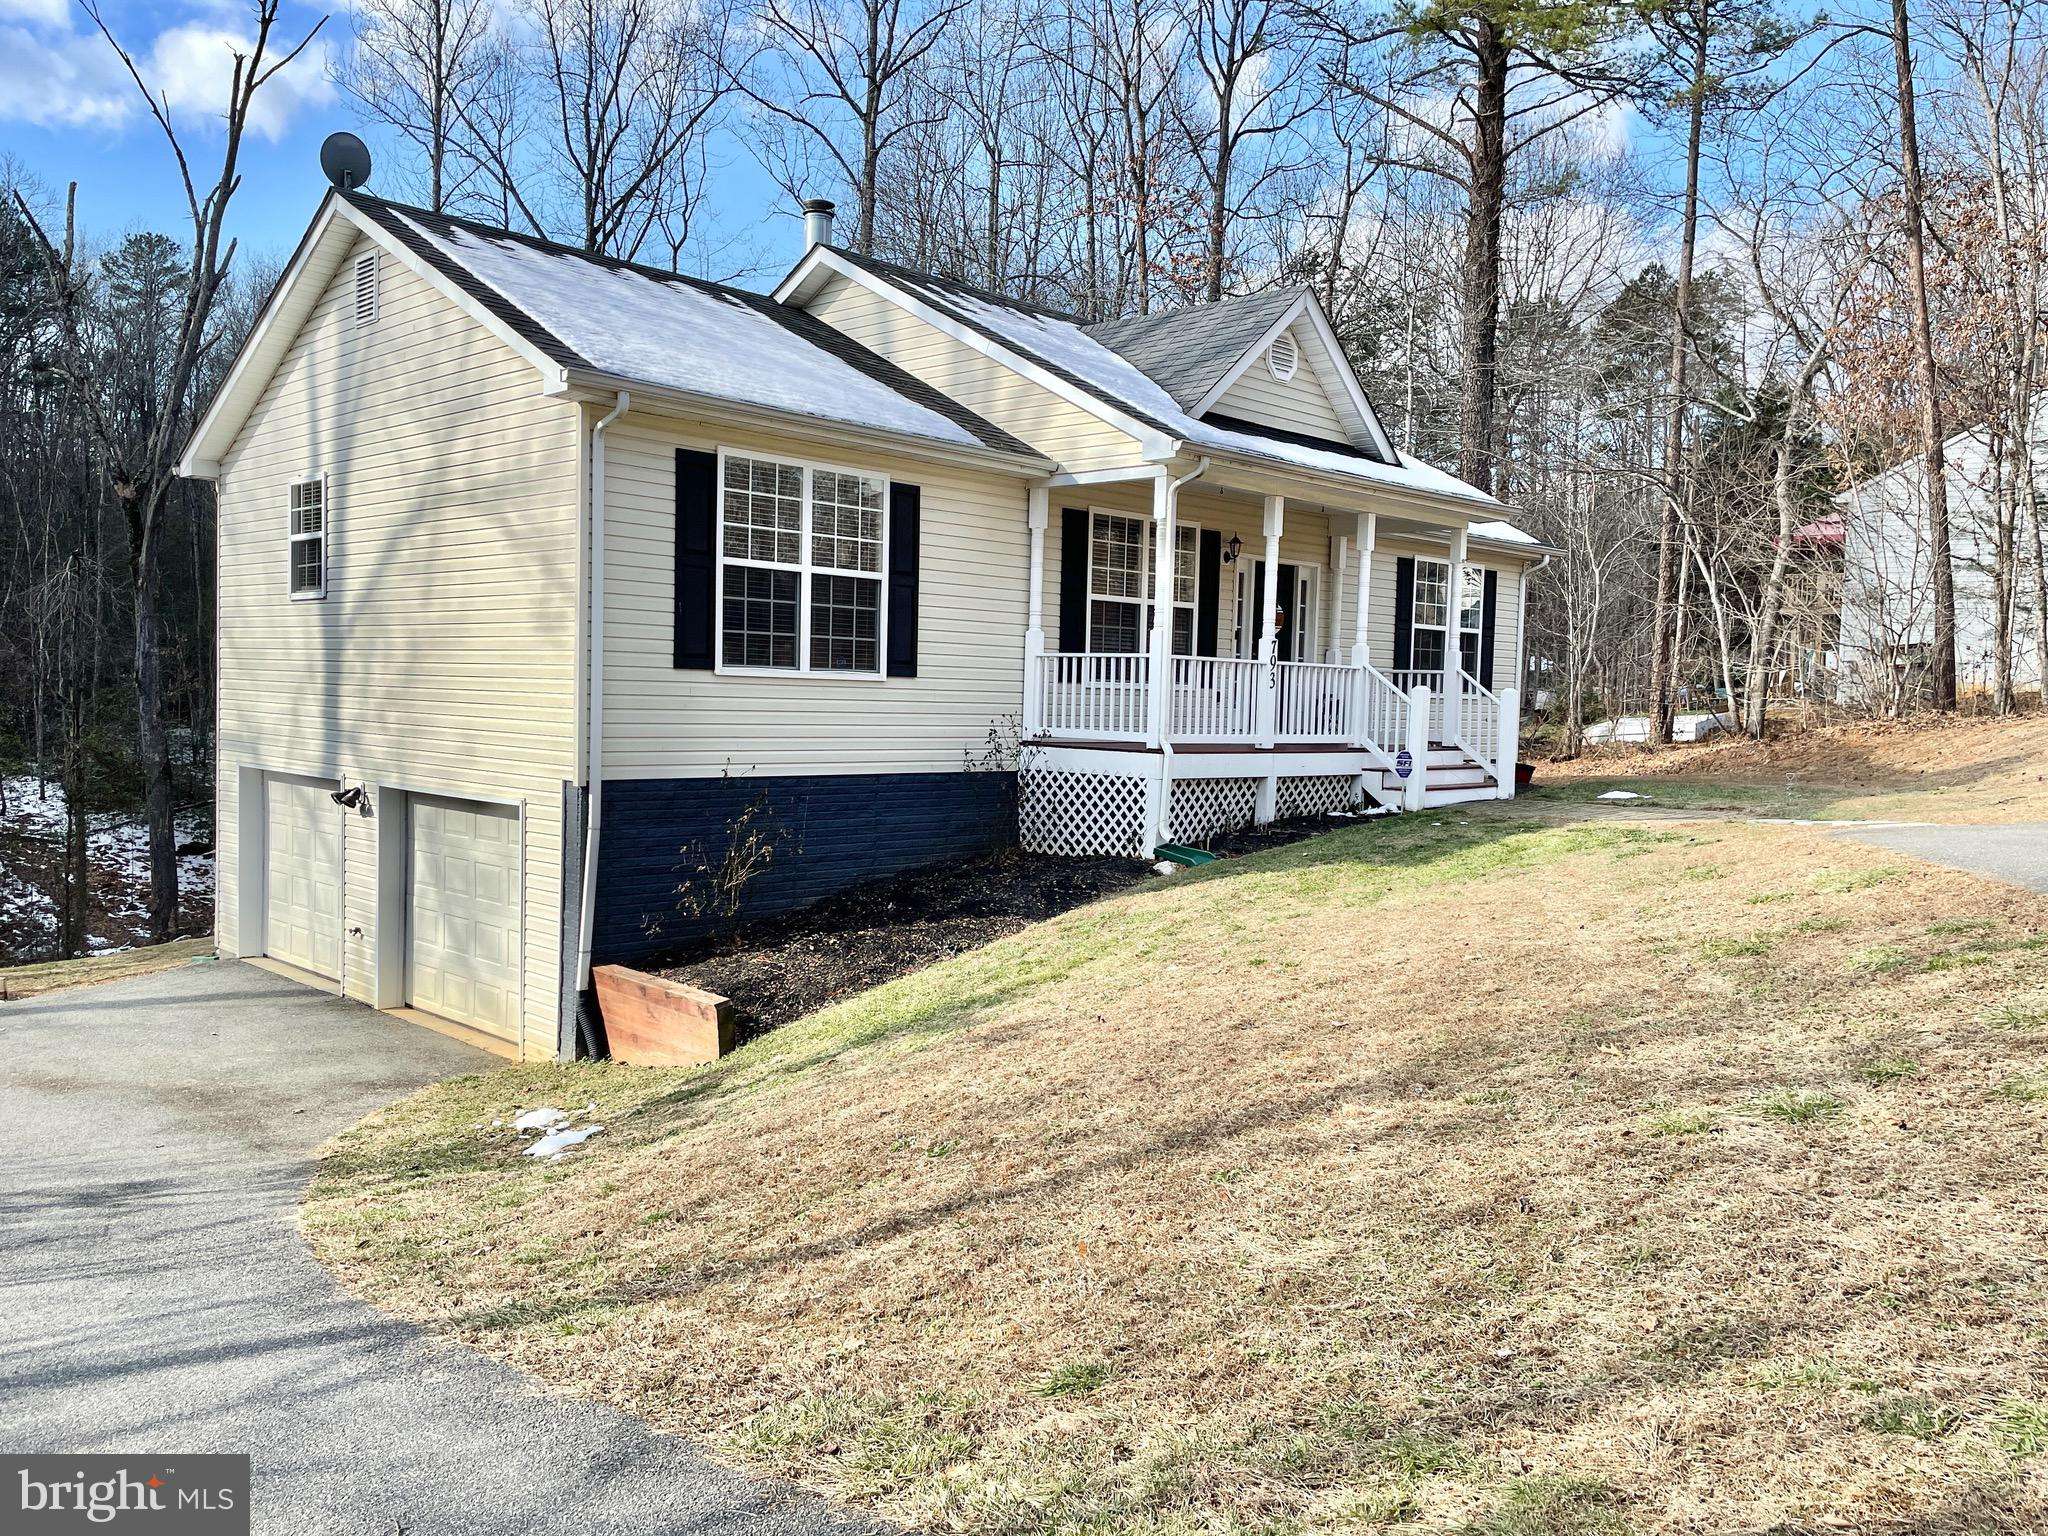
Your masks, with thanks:
[{"label": "large snow sheet on the left roof, above the double window", "polygon": [[600,373],[981,446],[963,426],[813,346],[743,299],[688,279],[655,279],[518,240],[489,240],[469,229],[438,233],[412,219],[406,223]]}]

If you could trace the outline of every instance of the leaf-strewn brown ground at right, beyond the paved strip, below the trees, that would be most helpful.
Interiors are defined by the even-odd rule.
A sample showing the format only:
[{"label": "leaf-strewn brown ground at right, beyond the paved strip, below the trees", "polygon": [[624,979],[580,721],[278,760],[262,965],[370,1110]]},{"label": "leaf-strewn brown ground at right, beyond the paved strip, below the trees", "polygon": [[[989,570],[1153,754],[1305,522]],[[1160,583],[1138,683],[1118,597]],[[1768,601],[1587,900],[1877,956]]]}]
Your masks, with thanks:
[{"label": "leaf-strewn brown ground at right, beyond the paved strip, below the trees", "polygon": [[2048,715],[2009,719],[1849,721],[1782,729],[1765,741],[1720,739],[1673,748],[1595,748],[1540,762],[1542,784],[1606,786],[1649,780],[1729,795],[1788,797],[1782,809],[1919,821],[2048,821]]}]

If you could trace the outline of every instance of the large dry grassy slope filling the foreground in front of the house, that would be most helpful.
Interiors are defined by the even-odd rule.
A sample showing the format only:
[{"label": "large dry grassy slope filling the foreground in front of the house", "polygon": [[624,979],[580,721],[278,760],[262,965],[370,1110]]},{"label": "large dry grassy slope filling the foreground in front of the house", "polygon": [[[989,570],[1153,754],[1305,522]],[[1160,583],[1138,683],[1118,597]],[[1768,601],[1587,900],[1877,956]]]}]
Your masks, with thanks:
[{"label": "large dry grassy slope filling the foreground in front of the house", "polygon": [[[717,1069],[428,1090],[305,1229],[936,1526],[2036,1530],[2044,930],[1804,829],[1376,821]],[[588,1100],[557,1165],[494,1126]]]}]

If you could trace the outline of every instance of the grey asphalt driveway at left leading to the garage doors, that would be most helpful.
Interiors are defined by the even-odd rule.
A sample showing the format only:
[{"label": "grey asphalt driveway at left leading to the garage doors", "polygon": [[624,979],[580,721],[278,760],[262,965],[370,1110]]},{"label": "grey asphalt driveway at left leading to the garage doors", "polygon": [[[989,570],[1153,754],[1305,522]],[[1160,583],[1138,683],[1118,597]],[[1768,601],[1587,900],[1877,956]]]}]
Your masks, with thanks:
[{"label": "grey asphalt driveway at left leading to the garage doors", "polygon": [[850,1532],[350,1300],[309,1153],[494,1065],[238,963],[0,1006],[0,1448],[248,1452],[262,1532]]}]

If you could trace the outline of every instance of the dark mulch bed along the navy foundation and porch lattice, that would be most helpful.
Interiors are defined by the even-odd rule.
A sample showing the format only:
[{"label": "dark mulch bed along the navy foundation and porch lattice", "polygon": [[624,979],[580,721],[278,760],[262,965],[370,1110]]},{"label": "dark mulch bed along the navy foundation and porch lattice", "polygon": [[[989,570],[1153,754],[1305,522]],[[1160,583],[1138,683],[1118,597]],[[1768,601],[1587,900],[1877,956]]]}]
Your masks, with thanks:
[{"label": "dark mulch bed along the navy foundation and porch lattice", "polygon": [[[1300,842],[1346,819],[1303,817],[1217,838],[1217,854]],[[1137,858],[1051,858],[1006,848],[860,885],[727,940],[672,950],[659,975],[729,997],[741,1038],[848,993],[948,961],[1034,922],[1159,879]]]}]

